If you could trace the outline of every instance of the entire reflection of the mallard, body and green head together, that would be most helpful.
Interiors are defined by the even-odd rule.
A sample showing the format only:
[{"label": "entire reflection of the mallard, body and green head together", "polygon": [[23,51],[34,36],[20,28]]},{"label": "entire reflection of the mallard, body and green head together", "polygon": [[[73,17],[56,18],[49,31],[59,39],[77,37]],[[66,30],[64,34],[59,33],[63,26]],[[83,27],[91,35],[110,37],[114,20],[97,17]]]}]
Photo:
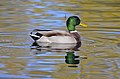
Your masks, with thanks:
[{"label": "entire reflection of the mallard, body and green head together", "polygon": [[34,50],[34,54],[41,54],[42,52],[65,52],[65,63],[68,67],[77,67],[80,63],[80,57],[75,56],[75,51],[78,51],[81,46],[79,44],[52,44],[52,43],[36,43],[34,42],[31,49]]}]

